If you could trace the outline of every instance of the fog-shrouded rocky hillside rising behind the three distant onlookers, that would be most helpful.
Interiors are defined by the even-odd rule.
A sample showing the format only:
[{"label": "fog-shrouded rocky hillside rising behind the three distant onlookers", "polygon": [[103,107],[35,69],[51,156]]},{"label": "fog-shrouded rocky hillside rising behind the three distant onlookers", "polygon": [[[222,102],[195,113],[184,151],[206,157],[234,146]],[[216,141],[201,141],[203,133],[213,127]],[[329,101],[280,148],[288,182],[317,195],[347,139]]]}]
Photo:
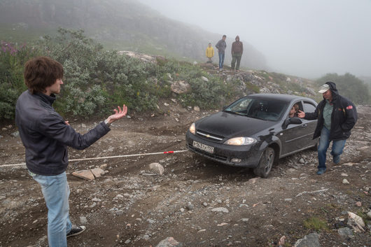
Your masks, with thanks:
[{"label": "fog-shrouded rocky hillside rising behind the three distant onlookers", "polygon": [[[56,32],[57,27],[84,29],[87,36],[107,48],[198,62],[206,61],[207,44],[214,46],[223,35],[171,20],[132,0],[1,0],[0,22],[1,40],[30,41]],[[234,38],[227,39],[225,64],[230,63]],[[268,69],[262,53],[241,41],[241,66]],[[214,62],[217,61],[216,53]]]}]

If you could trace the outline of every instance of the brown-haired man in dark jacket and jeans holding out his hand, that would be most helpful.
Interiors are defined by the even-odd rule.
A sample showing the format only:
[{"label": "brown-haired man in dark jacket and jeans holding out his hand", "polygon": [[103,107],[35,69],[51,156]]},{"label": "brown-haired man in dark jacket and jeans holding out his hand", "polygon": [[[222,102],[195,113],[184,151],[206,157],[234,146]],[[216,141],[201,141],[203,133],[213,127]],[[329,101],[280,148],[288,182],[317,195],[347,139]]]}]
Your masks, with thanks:
[{"label": "brown-haired man in dark jacket and jeans holding out his hand", "polygon": [[86,134],[78,134],[52,104],[63,84],[63,67],[50,57],[36,57],[25,64],[28,90],[18,98],[15,122],[26,150],[29,174],[41,185],[48,208],[48,244],[66,247],[67,237],[85,230],[69,219],[69,185],[66,178],[67,146],[84,149],[110,131],[112,122],[123,118],[127,107],[115,113]]}]

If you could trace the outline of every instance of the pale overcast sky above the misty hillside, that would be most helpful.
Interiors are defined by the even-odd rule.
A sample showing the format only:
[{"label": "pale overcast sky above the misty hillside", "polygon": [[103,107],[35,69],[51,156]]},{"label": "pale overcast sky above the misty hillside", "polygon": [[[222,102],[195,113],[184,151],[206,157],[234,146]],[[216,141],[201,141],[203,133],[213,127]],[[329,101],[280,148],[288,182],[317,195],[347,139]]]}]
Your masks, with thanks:
[{"label": "pale overcast sky above the misty hillside", "polygon": [[238,34],[276,72],[371,76],[371,0],[137,1],[216,34]]}]

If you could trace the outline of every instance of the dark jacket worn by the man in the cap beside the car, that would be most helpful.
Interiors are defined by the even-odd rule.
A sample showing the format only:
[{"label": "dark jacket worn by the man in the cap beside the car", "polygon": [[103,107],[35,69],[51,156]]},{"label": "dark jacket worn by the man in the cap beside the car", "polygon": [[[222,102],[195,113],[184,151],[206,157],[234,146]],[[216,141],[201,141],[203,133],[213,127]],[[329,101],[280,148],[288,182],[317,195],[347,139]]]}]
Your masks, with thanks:
[{"label": "dark jacket worn by the man in the cap beside the car", "polygon": [[[332,92],[333,104],[331,113],[331,129],[330,129],[330,141],[345,140],[351,135],[351,129],[356,124],[358,115],[356,106],[345,97],[339,95],[337,92],[335,83],[327,82]],[[321,136],[321,130],[323,128],[323,108],[325,107],[326,101],[323,99],[319,102],[314,113],[305,113],[304,119],[314,120],[318,119],[316,130],[314,131],[313,139]]]}]

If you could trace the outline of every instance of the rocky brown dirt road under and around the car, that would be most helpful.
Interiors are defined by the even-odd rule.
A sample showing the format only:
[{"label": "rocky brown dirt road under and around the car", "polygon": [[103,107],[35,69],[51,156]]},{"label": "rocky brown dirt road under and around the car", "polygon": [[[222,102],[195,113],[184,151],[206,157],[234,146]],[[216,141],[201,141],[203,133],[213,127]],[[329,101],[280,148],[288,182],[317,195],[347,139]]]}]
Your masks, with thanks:
[{"label": "rocky brown dirt road under and around the car", "polygon": [[[69,150],[70,159],[186,150],[190,123],[210,112],[167,103],[164,115],[114,123],[87,150]],[[329,163],[323,176],[316,175],[313,150],[280,160],[269,178],[188,151],[70,162],[71,220],[87,230],[68,239],[69,246],[157,246],[167,237],[179,246],[278,246],[283,235],[283,246],[294,246],[313,232],[318,233],[311,235],[314,246],[371,246],[370,219],[365,232],[342,233],[347,211],[367,219],[371,206],[371,108],[360,106],[358,112],[342,164]],[[71,121],[71,126],[82,133],[94,126],[83,123]],[[1,164],[24,162],[25,150],[14,132],[6,127],[0,133]],[[164,174],[149,169],[153,162],[165,168]],[[94,181],[71,175],[95,167],[106,173]],[[39,185],[24,166],[0,171],[0,246],[47,246]]]}]

